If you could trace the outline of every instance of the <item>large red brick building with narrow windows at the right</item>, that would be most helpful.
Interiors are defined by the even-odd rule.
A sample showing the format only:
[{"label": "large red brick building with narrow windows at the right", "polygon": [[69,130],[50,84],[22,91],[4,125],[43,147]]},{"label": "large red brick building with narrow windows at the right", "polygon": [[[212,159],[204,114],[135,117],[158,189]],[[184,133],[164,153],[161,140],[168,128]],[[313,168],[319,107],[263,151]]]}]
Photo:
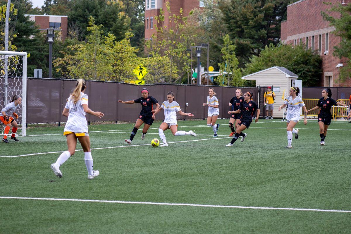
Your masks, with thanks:
[{"label": "large red brick building with narrow windows at the right", "polygon": [[[327,12],[330,5],[323,4],[321,0],[300,0],[287,6],[287,20],[282,22],[281,40],[284,44],[307,44],[308,48],[316,50],[322,56],[322,77],[320,86],[324,87],[351,87],[351,79],[339,83],[339,66],[345,65],[345,58],[333,56],[334,46],[341,38],[331,32],[335,29],[329,21],[323,20],[321,12],[324,11],[334,18],[340,18],[340,13]],[[351,0],[329,0],[333,5],[347,4]]]}]

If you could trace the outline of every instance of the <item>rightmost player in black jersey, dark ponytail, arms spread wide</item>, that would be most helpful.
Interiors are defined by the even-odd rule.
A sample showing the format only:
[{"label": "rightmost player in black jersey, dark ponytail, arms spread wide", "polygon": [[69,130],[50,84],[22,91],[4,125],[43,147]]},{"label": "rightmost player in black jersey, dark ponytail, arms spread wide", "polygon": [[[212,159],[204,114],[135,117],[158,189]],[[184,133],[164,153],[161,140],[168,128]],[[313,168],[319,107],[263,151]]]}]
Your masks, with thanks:
[{"label": "rightmost player in black jersey, dark ponytail, arms spread wide", "polygon": [[320,108],[318,113],[318,125],[319,125],[319,136],[320,136],[320,145],[325,144],[325,137],[327,135],[327,130],[331,122],[332,115],[330,109],[334,105],[347,107],[346,104],[336,102],[331,98],[330,88],[324,88],[322,90],[322,98],[318,100],[317,106],[309,109],[307,112],[314,111]]}]

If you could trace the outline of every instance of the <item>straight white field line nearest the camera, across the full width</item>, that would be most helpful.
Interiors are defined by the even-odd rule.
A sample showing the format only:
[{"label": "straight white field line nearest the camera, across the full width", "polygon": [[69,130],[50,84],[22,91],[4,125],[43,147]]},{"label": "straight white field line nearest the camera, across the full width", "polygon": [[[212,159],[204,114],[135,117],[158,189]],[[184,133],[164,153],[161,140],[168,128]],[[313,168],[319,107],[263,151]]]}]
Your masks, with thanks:
[{"label": "straight white field line nearest the camera, across the full width", "polygon": [[78,202],[100,202],[100,203],[119,203],[119,204],[138,204],[138,205],[159,205],[159,206],[195,206],[213,208],[238,208],[238,209],[263,209],[263,210],[298,210],[298,211],[318,211],[318,212],[338,212],[351,213],[351,210],[326,210],[326,209],[307,209],[307,208],[284,208],[284,207],[257,207],[257,206],[223,206],[223,205],[202,205],[190,203],[164,203],[164,202],[143,202],[143,201],[113,201],[113,200],[89,200],[89,199],[69,199],[69,198],[24,198],[0,196],[0,199],[17,200],[41,200],[41,201],[78,201]]}]

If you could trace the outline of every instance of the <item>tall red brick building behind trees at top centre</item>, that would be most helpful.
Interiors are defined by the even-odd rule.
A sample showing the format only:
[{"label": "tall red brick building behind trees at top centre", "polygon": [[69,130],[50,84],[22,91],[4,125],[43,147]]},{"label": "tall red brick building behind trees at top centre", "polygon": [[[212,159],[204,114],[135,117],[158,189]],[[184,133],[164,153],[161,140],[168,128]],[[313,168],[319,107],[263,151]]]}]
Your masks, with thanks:
[{"label": "tall red brick building behind trees at top centre", "polygon": [[[166,10],[166,2],[170,3],[170,14]],[[203,3],[199,0],[145,0],[145,40],[150,40],[153,34],[157,36],[155,16],[160,15],[160,8],[165,11],[165,21],[160,22],[157,26],[160,27],[161,24],[164,24],[168,27],[169,15],[180,15],[179,10],[183,8],[183,16],[187,16],[192,9],[202,5]]]}]

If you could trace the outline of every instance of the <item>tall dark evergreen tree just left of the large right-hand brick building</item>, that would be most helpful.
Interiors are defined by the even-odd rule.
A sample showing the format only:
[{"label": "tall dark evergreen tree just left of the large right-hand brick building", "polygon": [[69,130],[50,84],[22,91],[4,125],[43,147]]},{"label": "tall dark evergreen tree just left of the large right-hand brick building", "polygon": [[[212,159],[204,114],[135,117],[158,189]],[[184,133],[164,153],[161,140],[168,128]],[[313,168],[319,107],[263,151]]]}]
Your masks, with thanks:
[{"label": "tall dark evergreen tree just left of the large right-hand brick building", "polygon": [[219,0],[224,22],[236,45],[240,66],[280,39],[280,22],[291,0]]}]

